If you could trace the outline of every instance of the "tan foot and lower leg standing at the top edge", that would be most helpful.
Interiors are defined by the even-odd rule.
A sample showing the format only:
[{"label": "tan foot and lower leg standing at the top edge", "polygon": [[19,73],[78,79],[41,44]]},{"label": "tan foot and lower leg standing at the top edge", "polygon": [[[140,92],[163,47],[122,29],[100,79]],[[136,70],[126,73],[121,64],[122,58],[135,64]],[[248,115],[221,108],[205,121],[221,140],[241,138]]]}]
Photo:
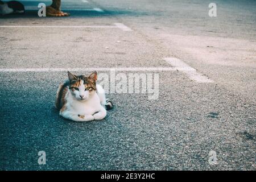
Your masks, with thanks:
[{"label": "tan foot and lower leg standing at the top edge", "polygon": [[52,0],[51,6],[46,7],[46,16],[68,16],[60,10],[61,0]]}]

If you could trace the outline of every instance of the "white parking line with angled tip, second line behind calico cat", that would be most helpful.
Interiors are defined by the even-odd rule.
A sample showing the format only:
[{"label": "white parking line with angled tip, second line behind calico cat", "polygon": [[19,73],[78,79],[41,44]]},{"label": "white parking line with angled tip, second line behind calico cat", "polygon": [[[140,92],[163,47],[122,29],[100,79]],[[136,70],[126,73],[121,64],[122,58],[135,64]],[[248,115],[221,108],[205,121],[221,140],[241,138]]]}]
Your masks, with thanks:
[{"label": "white parking line with angled tip, second line behind calico cat", "polygon": [[7,26],[3,25],[0,28],[119,28],[122,31],[133,31],[131,28],[125,26],[123,23],[114,23],[114,26],[34,26],[34,25],[24,25],[24,26]]}]

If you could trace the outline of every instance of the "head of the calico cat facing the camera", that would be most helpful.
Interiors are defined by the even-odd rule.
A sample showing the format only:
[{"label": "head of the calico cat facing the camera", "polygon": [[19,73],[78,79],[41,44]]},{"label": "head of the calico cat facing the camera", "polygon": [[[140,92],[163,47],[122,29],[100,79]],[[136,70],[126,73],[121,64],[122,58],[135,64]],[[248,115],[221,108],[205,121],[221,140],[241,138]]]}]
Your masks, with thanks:
[{"label": "head of the calico cat facing the camera", "polygon": [[86,101],[96,92],[97,72],[89,76],[74,75],[68,71],[69,90],[72,96],[79,101]]}]

